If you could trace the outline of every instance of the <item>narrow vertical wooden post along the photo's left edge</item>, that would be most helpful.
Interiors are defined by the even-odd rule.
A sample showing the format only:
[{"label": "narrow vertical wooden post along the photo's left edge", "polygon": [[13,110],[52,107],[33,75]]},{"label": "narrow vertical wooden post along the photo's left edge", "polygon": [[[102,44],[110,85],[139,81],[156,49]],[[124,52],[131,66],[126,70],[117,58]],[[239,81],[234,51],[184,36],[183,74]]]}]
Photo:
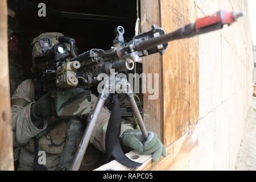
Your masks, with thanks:
[{"label": "narrow vertical wooden post along the photo's left edge", "polygon": [[0,170],[14,170],[7,50],[7,4],[0,1]]}]

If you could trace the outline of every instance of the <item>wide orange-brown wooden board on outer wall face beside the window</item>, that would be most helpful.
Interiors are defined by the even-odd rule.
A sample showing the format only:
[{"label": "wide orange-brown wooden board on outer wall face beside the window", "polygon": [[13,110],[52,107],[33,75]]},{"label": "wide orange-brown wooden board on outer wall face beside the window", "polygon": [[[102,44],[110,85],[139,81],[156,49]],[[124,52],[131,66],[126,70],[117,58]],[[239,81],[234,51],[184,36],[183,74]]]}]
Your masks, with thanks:
[{"label": "wide orange-brown wooden board on outer wall face beside the window", "polygon": [[[189,6],[191,4],[185,0],[161,0],[162,27],[171,32],[190,23]],[[171,42],[163,56],[163,134],[166,146],[183,136],[198,119],[196,44],[196,39]]]}]

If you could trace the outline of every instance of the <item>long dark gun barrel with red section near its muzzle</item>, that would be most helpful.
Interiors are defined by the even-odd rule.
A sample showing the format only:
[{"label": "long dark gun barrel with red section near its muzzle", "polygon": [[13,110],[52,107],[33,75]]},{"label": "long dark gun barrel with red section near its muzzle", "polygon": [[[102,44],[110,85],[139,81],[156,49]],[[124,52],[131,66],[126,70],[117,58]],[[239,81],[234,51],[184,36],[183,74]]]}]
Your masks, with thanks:
[{"label": "long dark gun barrel with red section near its muzzle", "polygon": [[169,34],[160,35],[155,38],[139,42],[135,44],[134,48],[136,51],[144,51],[161,44],[166,44],[173,40],[191,38],[196,35],[220,30],[225,24],[230,25],[236,22],[240,16],[244,15],[245,13],[235,13],[221,10],[212,16],[199,18],[195,23],[187,24],[186,26]]}]

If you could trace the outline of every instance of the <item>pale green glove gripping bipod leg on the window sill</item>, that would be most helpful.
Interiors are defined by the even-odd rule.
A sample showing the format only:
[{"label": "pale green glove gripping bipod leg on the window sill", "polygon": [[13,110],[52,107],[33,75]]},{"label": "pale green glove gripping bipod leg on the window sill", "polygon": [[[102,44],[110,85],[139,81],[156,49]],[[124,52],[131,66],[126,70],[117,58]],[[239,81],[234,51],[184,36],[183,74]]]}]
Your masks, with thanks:
[{"label": "pale green glove gripping bipod leg on the window sill", "polygon": [[122,135],[122,143],[142,155],[152,154],[153,162],[158,162],[160,156],[166,157],[166,147],[158,139],[156,133],[149,131],[148,138],[145,141],[141,130],[126,130]]}]

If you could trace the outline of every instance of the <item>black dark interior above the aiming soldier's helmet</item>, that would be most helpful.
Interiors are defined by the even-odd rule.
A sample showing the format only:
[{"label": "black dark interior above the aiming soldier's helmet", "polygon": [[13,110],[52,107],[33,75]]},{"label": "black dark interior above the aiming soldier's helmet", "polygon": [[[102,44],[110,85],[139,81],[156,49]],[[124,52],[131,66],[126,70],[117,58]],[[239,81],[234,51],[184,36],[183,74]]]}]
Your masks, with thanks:
[{"label": "black dark interior above the aiming soldier's helmet", "polygon": [[[46,17],[38,16],[38,4],[46,4]],[[91,48],[109,49],[115,38],[114,28],[125,28],[125,39],[134,36],[137,1],[125,0],[27,0],[18,15],[23,34],[19,63],[32,77],[31,48],[33,38],[43,32],[61,32],[76,40],[79,53]]]}]

